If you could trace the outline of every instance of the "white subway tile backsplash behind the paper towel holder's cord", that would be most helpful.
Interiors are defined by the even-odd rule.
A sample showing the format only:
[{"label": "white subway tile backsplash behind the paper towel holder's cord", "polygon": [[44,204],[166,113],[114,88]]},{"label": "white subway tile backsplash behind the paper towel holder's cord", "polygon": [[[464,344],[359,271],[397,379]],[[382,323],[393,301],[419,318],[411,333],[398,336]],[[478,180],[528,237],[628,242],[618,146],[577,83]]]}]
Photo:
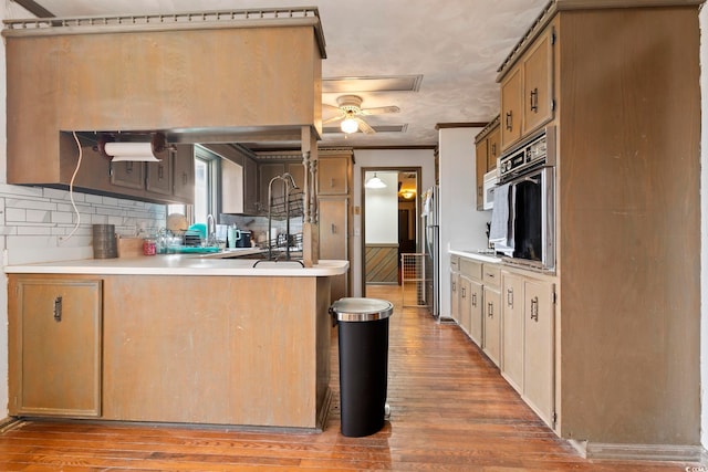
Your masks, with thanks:
[{"label": "white subway tile backsplash behind the paper towel holder's cord", "polygon": [[73,199],[79,214],[67,190],[0,185],[4,263],[92,258],[93,224],[114,224],[124,237],[165,227],[165,204],[75,191]]}]

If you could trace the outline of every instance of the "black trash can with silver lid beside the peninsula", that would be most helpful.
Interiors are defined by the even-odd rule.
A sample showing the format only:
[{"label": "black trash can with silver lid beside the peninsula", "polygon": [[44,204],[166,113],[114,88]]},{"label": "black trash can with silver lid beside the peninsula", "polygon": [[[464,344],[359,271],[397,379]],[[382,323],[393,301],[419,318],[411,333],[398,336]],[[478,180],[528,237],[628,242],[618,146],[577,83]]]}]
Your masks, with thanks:
[{"label": "black trash can with silver lid beside the peninsula", "polygon": [[340,298],[330,307],[340,328],[342,434],[369,436],[384,427],[388,386],[388,317],[378,298]]}]

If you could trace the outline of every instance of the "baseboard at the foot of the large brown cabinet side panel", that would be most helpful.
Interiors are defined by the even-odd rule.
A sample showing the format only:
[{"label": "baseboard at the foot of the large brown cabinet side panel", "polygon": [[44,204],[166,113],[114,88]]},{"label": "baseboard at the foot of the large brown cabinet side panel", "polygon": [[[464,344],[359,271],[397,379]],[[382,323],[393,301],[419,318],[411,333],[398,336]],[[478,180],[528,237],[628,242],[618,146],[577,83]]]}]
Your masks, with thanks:
[{"label": "baseboard at the foot of the large brown cabinet side panel", "polygon": [[691,463],[702,463],[706,460],[706,450],[700,445],[608,444],[587,442],[584,444],[584,448],[581,445],[579,451],[582,449],[585,450],[584,455],[589,460],[612,459]]}]

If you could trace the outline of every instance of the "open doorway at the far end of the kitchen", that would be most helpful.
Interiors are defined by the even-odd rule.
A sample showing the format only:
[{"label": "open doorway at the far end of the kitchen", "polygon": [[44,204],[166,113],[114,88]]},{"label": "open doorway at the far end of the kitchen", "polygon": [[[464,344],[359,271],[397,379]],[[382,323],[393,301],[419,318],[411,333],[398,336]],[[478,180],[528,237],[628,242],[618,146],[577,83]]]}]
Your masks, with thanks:
[{"label": "open doorway at the far end of the kitchen", "polygon": [[399,285],[400,254],[420,248],[420,168],[362,168],[362,294]]}]

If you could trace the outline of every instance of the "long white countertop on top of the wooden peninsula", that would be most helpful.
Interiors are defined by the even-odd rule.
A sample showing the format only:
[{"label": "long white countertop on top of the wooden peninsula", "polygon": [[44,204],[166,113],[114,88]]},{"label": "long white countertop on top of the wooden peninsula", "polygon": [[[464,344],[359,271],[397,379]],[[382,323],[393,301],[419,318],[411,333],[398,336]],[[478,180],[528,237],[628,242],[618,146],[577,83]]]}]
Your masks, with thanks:
[{"label": "long white countertop on top of the wooden peninsula", "polygon": [[[333,276],[346,272],[348,261],[321,260],[312,268],[296,261],[266,261],[219,258],[219,254],[159,254],[118,259],[82,259],[7,265],[14,274],[101,275],[241,275],[241,276]],[[258,262],[260,261],[260,262]],[[258,262],[256,266],[253,263]]]}]

